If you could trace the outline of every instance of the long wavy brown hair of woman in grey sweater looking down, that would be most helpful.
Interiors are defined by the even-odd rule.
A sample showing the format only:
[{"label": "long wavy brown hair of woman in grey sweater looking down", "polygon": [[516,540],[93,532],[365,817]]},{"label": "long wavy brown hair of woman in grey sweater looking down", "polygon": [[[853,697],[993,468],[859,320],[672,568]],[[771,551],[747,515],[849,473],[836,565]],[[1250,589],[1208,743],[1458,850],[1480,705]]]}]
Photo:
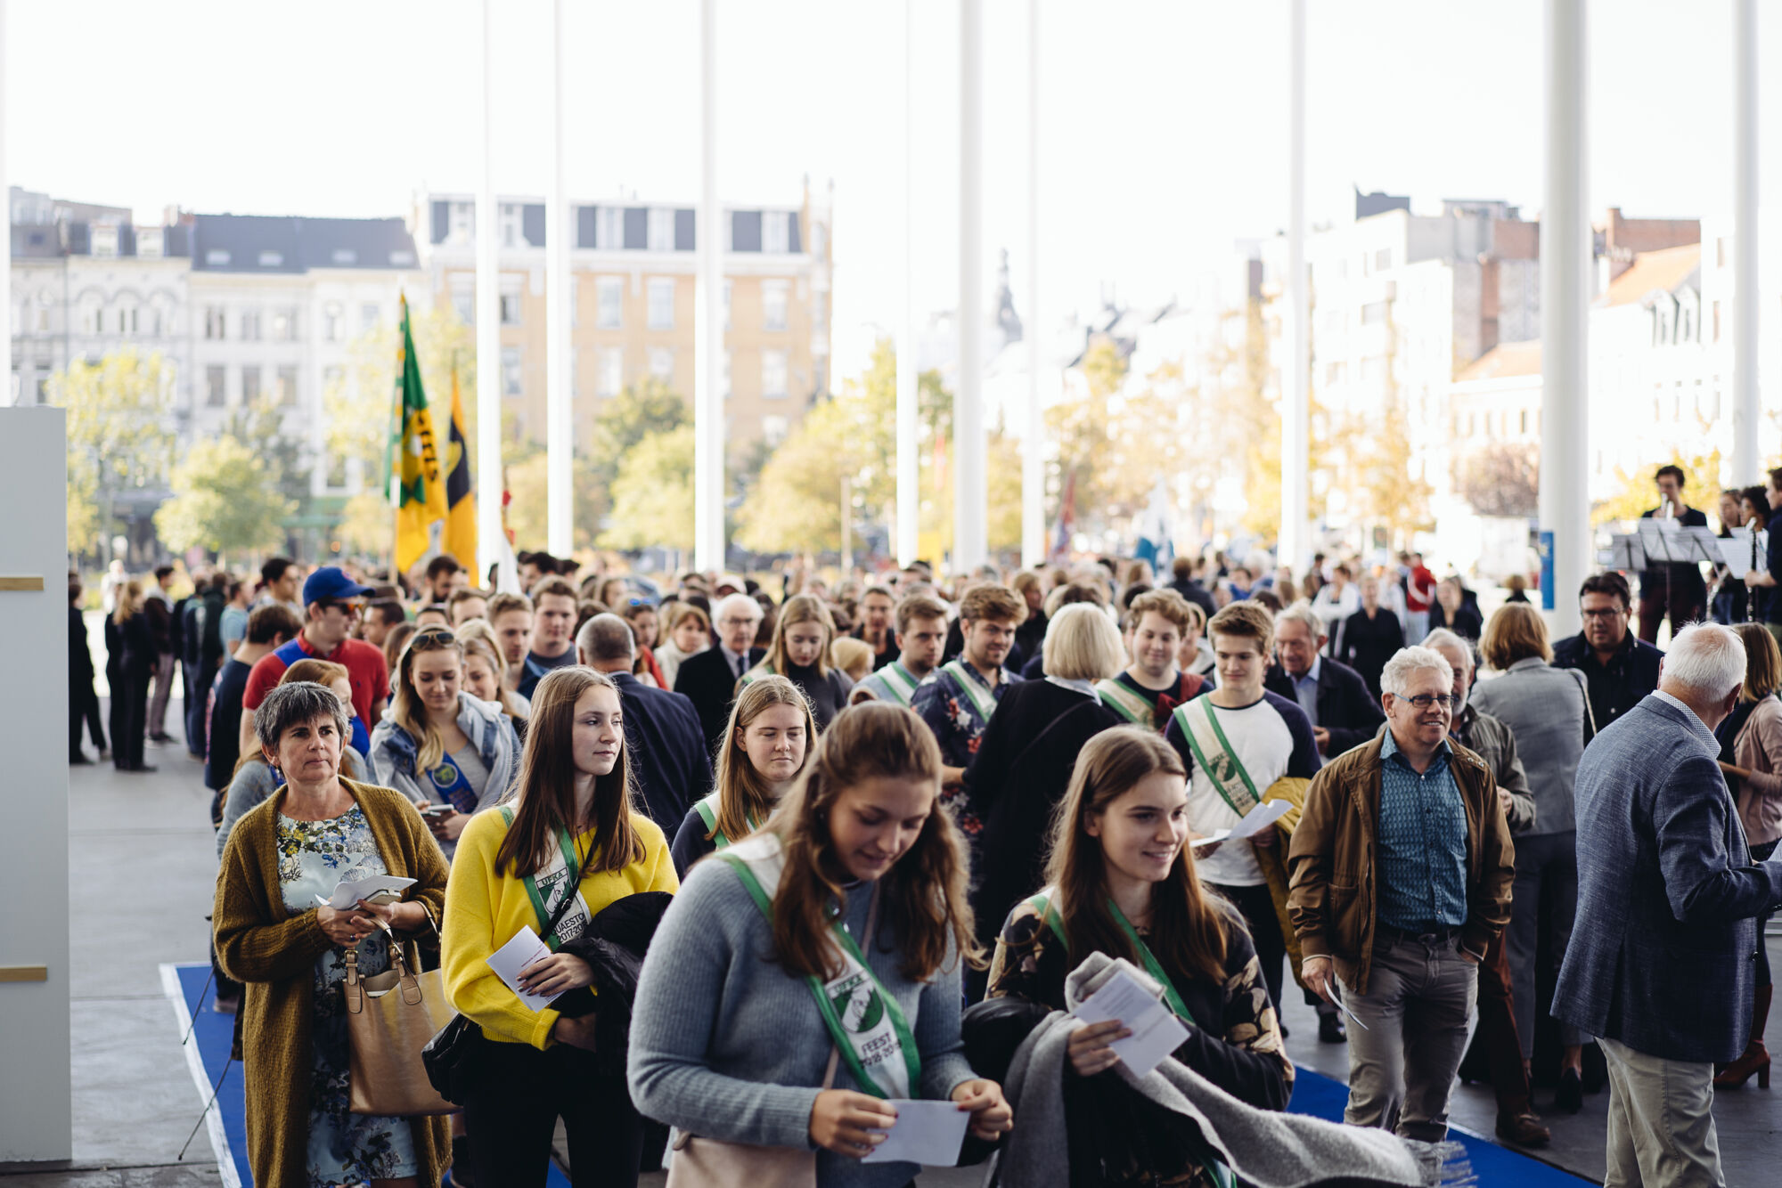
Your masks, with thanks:
[{"label": "long wavy brown hair of woman in grey sweater looking down", "polygon": [[939,803],[941,748],[921,718],[889,702],[850,705],[836,714],[764,826],[779,835],[786,853],[786,873],[773,896],[773,953],[793,974],[829,980],[841,972],[829,905],[846,903],[841,885],[850,876],[829,835],[829,816],[841,793],[875,777],[925,780],[936,798],[916,842],[879,880],[903,976],[927,981],[946,964],[948,948],[982,965],[966,898],[971,871],[964,841]]}]

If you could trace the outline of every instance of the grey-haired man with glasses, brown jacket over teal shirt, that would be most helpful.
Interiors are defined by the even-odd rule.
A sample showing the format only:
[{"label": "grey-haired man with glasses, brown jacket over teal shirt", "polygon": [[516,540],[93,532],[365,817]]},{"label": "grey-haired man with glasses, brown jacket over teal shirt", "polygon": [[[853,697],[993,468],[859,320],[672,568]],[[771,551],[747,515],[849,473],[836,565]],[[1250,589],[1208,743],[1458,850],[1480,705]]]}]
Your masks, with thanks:
[{"label": "grey-haired man with glasses, brown jacket over teal shirt", "polygon": [[1440,1142],[1515,851],[1492,769],[1449,741],[1449,663],[1404,648],[1379,682],[1386,728],[1306,793],[1287,910],[1304,985],[1363,1024],[1349,1029],[1344,1120]]}]

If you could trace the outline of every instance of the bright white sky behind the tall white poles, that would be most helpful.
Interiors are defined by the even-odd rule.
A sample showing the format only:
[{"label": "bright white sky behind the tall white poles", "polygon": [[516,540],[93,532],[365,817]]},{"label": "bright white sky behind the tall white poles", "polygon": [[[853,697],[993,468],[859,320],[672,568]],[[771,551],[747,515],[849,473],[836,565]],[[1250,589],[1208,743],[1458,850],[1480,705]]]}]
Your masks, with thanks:
[{"label": "bright white sky behind the tall white poles", "polygon": [[[697,0],[572,0],[574,198],[699,194]],[[720,0],[720,189],[797,201],[836,187],[836,370],[855,372],[902,292],[905,5]],[[1782,5],[1759,5],[1762,144],[1782,183]],[[1310,0],[1313,223],[1351,185],[1541,205],[1541,2]],[[406,216],[479,182],[481,5],[14,0],[7,169],[61,198],[201,212]],[[985,4],[985,255],[1026,269],[1025,0]],[[916,296],[957,280],[959,9],[916,0]],[[1590,205],[1730,210],[1732,21],[1725,0],[1591,4]],[[547,0],[495,18],[495,185],[545,192]],[[1287,0],[1044,0],[1041,306],[1105,285],[1187,294],[1235,239],[1287,212]],[[1770,210],[1782,203],[1766,201]],[[1775,226],[1768,219],[1766,226]],[[1021,308],[1023,317],[1028,315]]]}]

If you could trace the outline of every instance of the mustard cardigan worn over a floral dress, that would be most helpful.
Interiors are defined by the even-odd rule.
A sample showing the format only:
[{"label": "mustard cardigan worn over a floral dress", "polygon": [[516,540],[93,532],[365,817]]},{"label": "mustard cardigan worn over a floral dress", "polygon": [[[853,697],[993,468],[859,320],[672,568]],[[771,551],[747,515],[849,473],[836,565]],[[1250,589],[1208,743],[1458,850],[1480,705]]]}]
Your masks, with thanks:
[{"label": "mustard cardigan worn over a floral dress", "polygon": [[[413,803],[388,787],[342,778],[340,785],[358,801],[378,855],[390,875],[419,880],[408,899],[428,907],[433,919],[446,905],[446,855]],[[278,889],[278,812],[285,803],[280,787],[269,800],[235,823],[223,850],[214,912],[217,962],[244,983],[241,1003],[241,1049],[248,1095],[248,1160],[257,1188],[305,1188],[310,1076],[310,1022],[314,1019],[315,958],[328,935],[315,923],[315,908],[298,915],[285,910]],[[431,932],[422,933],[431,946]],[[415,942],[406,944],[410,967]],[[415,1163],[421,1184],[438,1184],[451,1158],[451,1126],[440,1119],[412,1119]]]}]

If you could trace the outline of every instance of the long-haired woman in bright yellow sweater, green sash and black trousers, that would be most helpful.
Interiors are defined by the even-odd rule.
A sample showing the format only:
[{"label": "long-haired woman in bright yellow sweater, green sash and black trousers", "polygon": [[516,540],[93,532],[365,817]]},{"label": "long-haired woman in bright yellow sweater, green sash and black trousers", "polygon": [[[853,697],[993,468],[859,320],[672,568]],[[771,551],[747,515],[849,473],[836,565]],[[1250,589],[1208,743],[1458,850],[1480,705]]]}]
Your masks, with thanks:
[{"label": "long-haired woman in bright yellow sweater, green sash and black trousers", "polygon": [[542,1186],[558,1117],[577,1188],[636,1184],[642,1122],[624,1078],[593,1072],[595,1015],[533,1010],[488,956],[522,928],[549,933],[551,956],[522,969],[520,981],[570,1006],[561,996],[588,987],[593,971],[556,951],[561,942],[615,899],[677,887],[661,828],[633,807],[618,688],[592,668],[545,675],[515,793],[470,818],[446,891],[446,987],[490,1040],[463,1103],[478,1188]]}]

